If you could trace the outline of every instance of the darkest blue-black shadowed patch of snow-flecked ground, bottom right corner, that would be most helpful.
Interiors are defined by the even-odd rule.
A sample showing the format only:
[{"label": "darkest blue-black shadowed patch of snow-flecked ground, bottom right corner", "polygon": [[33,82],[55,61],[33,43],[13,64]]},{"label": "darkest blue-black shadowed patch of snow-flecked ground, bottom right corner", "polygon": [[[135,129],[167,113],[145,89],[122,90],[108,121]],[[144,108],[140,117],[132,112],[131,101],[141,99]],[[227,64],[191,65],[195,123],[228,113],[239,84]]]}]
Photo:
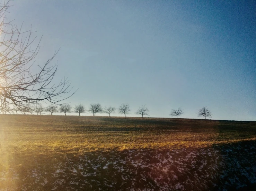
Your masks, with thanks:
[{"label": "darkest blue-black shadowed patch of snow-flecked ground, bottom right corner", "polygon": [[217,182],[220,188],[256,190],[256,141],[213,145],[212,148],[221,156]]}]

